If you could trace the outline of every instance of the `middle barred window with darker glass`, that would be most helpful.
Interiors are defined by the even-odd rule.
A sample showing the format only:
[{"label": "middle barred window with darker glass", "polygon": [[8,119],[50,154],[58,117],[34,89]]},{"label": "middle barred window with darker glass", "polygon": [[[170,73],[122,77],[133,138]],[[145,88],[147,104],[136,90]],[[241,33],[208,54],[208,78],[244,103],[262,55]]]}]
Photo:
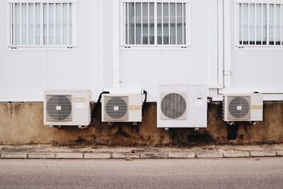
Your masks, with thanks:
[{"label": "middle barred window with darker glass", "polygon": [[187,47],[187,1],[123,1],[123,45]]}]

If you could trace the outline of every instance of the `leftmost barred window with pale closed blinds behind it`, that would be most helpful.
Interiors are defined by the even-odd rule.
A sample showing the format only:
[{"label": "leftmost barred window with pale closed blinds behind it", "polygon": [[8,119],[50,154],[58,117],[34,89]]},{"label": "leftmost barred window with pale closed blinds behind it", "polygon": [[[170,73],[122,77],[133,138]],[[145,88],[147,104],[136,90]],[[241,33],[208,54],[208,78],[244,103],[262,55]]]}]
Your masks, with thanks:
[{"label": "leftmost barred window with pale closed blinds behind it", "polygon": [[9,47],[74,46],[72,1],[11,2]]}]

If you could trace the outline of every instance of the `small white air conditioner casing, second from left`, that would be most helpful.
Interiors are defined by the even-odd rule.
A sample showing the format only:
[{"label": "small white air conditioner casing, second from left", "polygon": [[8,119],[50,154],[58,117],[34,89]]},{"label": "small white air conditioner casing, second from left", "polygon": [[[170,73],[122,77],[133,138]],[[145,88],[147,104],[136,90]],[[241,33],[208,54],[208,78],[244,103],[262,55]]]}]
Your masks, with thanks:
[{"label": "small white air conditioner casing, second from left", "polygon": [[102,122],[141,122],[141,93],[109,93],[101,99]]}]

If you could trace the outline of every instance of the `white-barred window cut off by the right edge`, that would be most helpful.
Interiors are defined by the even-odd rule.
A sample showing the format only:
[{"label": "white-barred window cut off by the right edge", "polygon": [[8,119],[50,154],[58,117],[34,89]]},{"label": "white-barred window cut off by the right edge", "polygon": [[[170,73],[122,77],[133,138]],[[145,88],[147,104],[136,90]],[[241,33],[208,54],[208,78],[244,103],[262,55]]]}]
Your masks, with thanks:
[{"label": "white-barred window cut off by the right edge", "polygon": [[[262,1],[261,1],[262,2]],[[263,1],[264,2],[264,1]],[[243,46],[283,46],[283,4],[236,4],[237,40]]]}]

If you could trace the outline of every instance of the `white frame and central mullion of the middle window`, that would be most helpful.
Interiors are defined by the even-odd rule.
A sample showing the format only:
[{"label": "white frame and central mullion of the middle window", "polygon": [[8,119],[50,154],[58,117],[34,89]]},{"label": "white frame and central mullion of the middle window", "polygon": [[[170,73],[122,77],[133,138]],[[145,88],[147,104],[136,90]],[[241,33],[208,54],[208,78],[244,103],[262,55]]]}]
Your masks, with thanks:
[{"label": "white frame and central mullion of the middle window", "polygon": [[[124,3],[154,3],[154,45],[127,45],[125,44],[125,13],[124,13]],[[157,4],[158,3],[183,3],[185,4],[185,29],[186,32],[185,35],[185,45],[158,45],[157,44]],[[190,0],[120,0],[120,44],[122,49],[184,49],[184,50],[190,50],[190,42],[191,42],[191,3]],[[184,37],[183,37],[184,38]]]}]

